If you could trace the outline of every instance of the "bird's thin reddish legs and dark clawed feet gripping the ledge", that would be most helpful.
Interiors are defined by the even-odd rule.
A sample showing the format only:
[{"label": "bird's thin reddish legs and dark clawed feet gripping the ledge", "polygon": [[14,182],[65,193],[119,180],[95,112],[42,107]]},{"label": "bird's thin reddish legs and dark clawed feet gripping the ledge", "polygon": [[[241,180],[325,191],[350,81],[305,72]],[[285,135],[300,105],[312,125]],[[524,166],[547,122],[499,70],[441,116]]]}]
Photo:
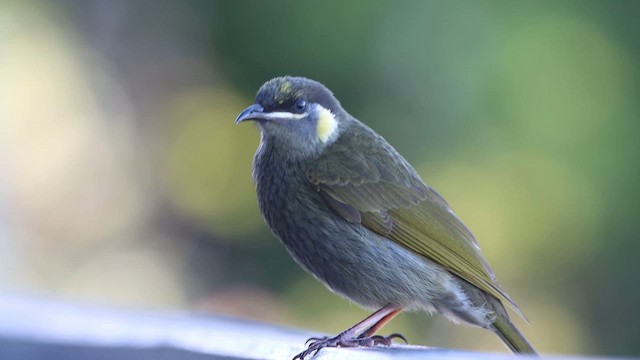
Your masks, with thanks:
[{"label": "bird's thin reddish legs and dark clawed feet gripping the ledge", "polygon": [[404,336],[400,334],[392,334],[387,337],[374,335],[376,331],[388,323],[394,316],[398,315],[400,311],[402,311],[402,308],[397,305],[387,305],[335,337],[330,338],[325,336],[323,338],[311,338],[307,340],[307,342],[310,342],[309,347],[294,356],[293,360],[304,360],[307,355],[316,353],[325,347],[370,347],[375,345],[390,345],[391,340],[394,338],[405,340]]}]

